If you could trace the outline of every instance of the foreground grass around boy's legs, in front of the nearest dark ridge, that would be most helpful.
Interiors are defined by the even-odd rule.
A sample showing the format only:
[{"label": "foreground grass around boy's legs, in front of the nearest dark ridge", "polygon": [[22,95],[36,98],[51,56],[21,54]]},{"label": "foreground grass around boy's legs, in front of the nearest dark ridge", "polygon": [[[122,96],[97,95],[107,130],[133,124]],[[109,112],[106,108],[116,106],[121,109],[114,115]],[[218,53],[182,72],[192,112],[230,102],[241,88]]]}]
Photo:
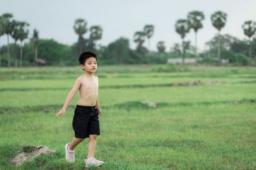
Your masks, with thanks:
[{"label": "foreground grass around boy's legs, in front of the nearest dark ridge", "polygon": [[[108,164],[129,164],[129,167],[145,169],[156,165],[175,169],[218,169],[218,166],[221,169],[252,169],[256,166],[253,163],[255,109],[255,104],[129,111],[109,108],[100,117],[102,135],[98,138],[96,155],[107,162],[106,167]],[[10,141],[47,145],[60,151],[58,159],[49,160],[51,164],[83,167],[86,141],[76,148],[80,156],[74,166],[64,159],[63,146],[74,135],[72,110],[63,118],[56,119],[54,115],[54,112],[2,115],[4,127],[1,127],[0,145]]]}]

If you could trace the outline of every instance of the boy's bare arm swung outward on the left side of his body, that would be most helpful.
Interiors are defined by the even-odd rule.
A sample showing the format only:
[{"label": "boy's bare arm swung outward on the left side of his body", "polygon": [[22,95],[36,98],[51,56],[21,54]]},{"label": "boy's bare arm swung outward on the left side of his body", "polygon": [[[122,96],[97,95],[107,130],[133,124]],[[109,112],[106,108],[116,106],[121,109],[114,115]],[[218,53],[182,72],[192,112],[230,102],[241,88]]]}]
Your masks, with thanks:
[{"label": "boy's bare arm swung outward on the left side of his body", "polygon": [[74,84],[74,87],[72,88],[72,90],[68,93],[68,96],[65,100],[65,103],[62,107],[62,109],[56,114],[56,118],[59,117],[59,115],[61,115],[61,117],[64,116],[66,110],[67,110],[67,107],[68,107],[68,104],[70,103],[70,101],[72,101],[72,99],[74,98],[74,96],[76,95],[76,92],[77,90],[81,87],[81,80],[80,78],[77,78],[76,81],[75,81],[75,84]]}]

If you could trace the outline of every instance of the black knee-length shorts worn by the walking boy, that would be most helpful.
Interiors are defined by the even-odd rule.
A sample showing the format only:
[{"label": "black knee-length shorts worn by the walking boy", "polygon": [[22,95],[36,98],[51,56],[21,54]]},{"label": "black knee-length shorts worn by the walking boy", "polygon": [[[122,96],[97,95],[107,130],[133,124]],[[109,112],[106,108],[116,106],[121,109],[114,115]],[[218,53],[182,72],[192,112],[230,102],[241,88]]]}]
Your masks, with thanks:
[{"label": "black knee-length shorts worn by the walking boy", "polygon": [[76,106],[72,122],[76,138],[89,138],[90,134],[100,134],[99,110],[95,106]]}]

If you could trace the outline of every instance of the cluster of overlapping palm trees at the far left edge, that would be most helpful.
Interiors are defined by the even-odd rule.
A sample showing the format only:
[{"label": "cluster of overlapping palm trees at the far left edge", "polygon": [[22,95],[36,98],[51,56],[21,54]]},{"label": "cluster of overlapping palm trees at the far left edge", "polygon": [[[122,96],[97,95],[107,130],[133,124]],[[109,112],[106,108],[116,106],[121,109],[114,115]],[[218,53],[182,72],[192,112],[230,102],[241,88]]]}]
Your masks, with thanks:
[{"label": "cluster of overlapping palm trees at the far left edge", "polygon": [[[22,43],[25,39],[28,38],[29,24],[27,22],[20,22],[13,20],[12,13],[4,13],[0,16],[0,38],[4,34],[7,35],[7,58],[8,58],[8,67],[10,67],[10,43],[9,36],[12,36],[14,39],[14,58],[15,58],[15,67],[17,67],[17,41],[20,41],[20,67],[22,67]],[[37,59],[37,43],[38,43],[38,31],[34,29],[33,37],[31,40],[35,46],[35,59]],[[0,44],[0,67],[1,67],[1,44]]]}]

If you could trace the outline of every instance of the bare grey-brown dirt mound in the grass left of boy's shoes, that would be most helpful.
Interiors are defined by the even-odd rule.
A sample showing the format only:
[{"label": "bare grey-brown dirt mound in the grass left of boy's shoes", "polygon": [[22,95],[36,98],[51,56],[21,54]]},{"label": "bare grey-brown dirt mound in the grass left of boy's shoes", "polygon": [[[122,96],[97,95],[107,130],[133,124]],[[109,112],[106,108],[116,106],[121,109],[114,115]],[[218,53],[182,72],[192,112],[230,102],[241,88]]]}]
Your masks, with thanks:
[{"label": "bare grey-brown dirt mound in the grass left of boy's shoes", "polygon": [[47,153],[55,153],[55,150],[49,150],[47,146],[39,145],[39,146],[24,146],[23,152],[18,153],[12,159],[12,164],[15,166],[20,166],[23,164],[24,161],[32,160],[35,157],[39,157],[42,154]]}]

